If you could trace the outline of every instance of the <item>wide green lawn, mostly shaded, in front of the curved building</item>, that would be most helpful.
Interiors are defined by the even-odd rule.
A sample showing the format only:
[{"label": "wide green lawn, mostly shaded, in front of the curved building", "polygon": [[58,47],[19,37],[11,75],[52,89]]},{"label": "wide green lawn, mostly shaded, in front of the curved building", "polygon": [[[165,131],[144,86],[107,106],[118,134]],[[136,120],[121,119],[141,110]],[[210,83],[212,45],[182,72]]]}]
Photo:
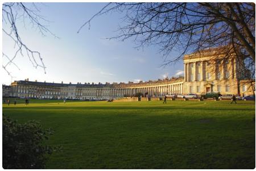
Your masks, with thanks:
[{"label": "wide green lawn, mostly shaded, in front of the curved building", "polygon": [[255,102],[229,103],[22,100],[3,114],[55,130],[49,169],[253,169]]}]

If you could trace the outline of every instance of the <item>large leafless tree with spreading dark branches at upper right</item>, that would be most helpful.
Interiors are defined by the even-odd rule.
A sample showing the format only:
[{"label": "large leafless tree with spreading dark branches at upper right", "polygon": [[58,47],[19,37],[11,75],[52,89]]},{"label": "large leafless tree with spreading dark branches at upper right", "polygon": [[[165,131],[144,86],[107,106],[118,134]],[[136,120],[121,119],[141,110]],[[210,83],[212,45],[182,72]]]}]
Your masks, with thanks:
[{"label": "large leafless tree with spreading dark branches at upper right", "polygon": [[[92,16],[123,12],[118,35],[108,39],[133,38],[138,47],[158,45],[164,65],[187,53],[218,47],[223,61],[234,57],[244,66],[243,76],[255,78],[254,3],[108,3]],[[170,56],[170,52],[179,52]],[[250,71],[250,74],[248,74]]]}]

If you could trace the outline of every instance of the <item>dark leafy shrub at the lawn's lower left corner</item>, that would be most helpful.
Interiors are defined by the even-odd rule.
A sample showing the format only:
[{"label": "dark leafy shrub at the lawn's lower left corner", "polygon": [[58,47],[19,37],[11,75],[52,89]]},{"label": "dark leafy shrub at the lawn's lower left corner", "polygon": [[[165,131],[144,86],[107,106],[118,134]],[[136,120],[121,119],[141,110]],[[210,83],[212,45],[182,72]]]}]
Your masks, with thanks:
[{"label": "dark leafy shrub at the lawn's lower left corner", "polygon": [[18,123],[3,115],[3,168],[43,169],[47,155],[60,149],[43,144],[49,135],[51,129],[44,130],[35,120]]}]

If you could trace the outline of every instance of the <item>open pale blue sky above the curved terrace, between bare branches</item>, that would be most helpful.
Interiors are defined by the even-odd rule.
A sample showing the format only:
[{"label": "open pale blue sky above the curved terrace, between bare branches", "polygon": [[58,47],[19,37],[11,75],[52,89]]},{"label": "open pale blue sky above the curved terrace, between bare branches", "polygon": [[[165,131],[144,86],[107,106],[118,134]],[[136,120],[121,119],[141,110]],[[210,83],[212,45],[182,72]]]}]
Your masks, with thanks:
[{"label": "open pale blue sky above the curved terrace, between bare branches", "polygon": [[[47,24],[60,39],[51,34],[42,36],[36,28],[23,19],[18,20],[18,31],[24,43],[39,51],[46,65],[46,74],[42,68],[35,69],[26,55],[18,55],[14,65],[7,66],[14,80],[77,82],[128,82],[138,80],[157,80],[168,76],[183,74],[183,61],[161,68],[162,56],[158,47],[134,48],[133,39],[126,41],[105,40],[115,36],[122,14],[113,12],[92,20],[90,30],[84,27],[77,30],[91,16],[96,14],[105,3],[38,3],[40,15],[50,22]],[[3,52],[14,55],[14,43],[3,34]],[[170,56],[174,53],[170,54]],[[3,59],[6,64],[7,59]],[[2,70],[2,82],[9,85],[11,77]]]}]

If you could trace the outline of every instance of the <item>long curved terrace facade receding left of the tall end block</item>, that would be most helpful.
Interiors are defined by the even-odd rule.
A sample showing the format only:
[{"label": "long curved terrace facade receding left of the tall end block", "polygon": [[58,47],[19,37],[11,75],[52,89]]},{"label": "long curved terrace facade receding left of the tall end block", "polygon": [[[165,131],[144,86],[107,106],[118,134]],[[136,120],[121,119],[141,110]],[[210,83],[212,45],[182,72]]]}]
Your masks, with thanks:
[{"label": "long curved terrace facade receding left of the tall end block", "polygon": [[11,83],[12,97],[43,99],[113,99],[131,97],[142,93],[143,97],[160,97],[164,94],[183,94],[183,77],[158,81],[127,84],[63,84],[37,81],[14,81]]}]

